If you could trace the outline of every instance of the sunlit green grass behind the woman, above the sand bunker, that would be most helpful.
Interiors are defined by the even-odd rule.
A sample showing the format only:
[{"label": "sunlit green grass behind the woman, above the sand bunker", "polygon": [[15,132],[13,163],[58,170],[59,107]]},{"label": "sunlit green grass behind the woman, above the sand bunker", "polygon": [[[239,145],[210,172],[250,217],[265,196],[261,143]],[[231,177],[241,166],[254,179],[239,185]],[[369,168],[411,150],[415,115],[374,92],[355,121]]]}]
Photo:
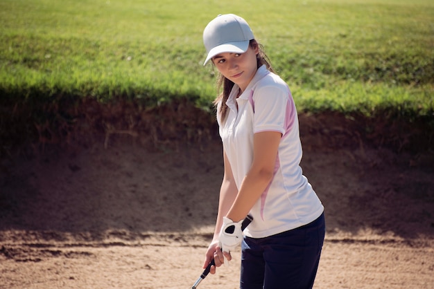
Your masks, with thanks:
[{"label": "sunlit green grass behind the woman, above the sand bunker", "polygon": [[300,109],[433,118],[431,0],[3,0],[0,97],[186,97],[209,108],[202,30],[228,12],[248,20]]}]

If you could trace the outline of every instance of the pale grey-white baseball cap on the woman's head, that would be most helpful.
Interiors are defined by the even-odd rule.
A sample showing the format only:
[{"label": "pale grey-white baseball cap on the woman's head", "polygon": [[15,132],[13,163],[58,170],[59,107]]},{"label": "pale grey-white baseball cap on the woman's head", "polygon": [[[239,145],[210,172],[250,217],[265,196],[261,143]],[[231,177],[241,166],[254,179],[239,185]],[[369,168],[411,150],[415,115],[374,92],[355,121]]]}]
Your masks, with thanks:
[{"label": "pale grey-white baseball cap on the woman's head", "polygon": [[245,53],[252,39],[252,29],[243,18],[234,14],[218,15],[203,30],[203,44],[208,53],[203,65],[220,53]]}]

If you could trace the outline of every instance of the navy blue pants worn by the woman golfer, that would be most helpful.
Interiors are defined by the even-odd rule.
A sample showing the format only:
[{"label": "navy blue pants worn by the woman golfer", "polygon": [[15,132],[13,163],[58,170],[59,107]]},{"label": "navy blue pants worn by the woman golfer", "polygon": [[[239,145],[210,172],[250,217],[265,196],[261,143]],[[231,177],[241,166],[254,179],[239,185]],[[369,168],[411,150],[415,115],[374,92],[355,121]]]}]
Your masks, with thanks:
[{"label": "navy blue pants worn by the woman golfer", "polygon": [[302,227],[241,244],[241,289],[313,287],[322,244],[324,214]]}]

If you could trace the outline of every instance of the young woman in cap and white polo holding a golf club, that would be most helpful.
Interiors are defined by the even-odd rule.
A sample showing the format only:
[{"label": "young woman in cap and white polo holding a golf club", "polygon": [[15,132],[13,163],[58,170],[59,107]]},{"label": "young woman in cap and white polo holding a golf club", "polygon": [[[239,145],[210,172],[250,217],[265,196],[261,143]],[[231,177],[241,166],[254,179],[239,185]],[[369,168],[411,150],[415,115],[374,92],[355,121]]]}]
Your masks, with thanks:
[{"label": "young woman in cap and white polo holding a golf club", "polygon": [[[203,32],[220,72],[217,120],[224,176],[204,268],[241,243],[241,288],[312,288],[324,241],[324,207],[302,174],[297,111],[247,22],[219,15]],[[205,65],[204,64],[204,65]],[[250,214],[244,232],[241,222]]]}]

